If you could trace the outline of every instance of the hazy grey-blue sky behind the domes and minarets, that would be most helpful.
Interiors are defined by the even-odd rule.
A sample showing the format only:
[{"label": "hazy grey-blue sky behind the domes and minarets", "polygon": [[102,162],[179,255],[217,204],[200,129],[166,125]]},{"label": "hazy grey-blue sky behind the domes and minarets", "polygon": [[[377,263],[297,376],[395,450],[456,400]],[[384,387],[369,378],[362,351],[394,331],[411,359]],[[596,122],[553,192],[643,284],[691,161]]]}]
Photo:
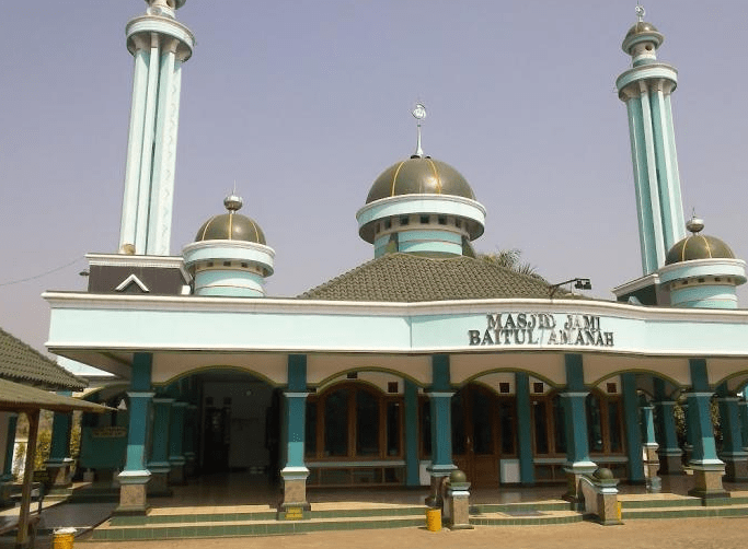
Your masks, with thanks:
[{"label": "hazy grey-blue sky behind the domes and minarets", "polygon": [[[519,248],[591,295],[642,274],[621,42],[632,0],[187,0],[172,254],[223,211],[276,250],[269,295],[292,296],[373,257],[356,211],[415,148],[458,168],[488,211],[479,252]],[[748,14],[744,1],[648,0],[665,35],[683,208],[748,257]],[[37,349],[41,293],[81,290],[85,253],[118,245],[142,0],[3,4],[0,326]],[[76,261],[78,259],[78,261]],[[71,261],[76,261],[69,265]],[[9,282],[68,265],[23,283]],[[748,285],[748,284],[747,284]],[[745,287],[744,287],[745,288]],[[740,291],[741,307],[748,292]]]}]

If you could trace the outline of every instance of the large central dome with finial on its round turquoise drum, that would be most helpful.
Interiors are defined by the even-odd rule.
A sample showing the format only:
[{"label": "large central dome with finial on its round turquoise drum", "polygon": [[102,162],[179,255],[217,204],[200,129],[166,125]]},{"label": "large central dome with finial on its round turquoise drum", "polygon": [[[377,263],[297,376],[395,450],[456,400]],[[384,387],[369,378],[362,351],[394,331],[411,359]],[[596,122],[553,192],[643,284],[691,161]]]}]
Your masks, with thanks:
[{"label": "large central dome with finial on its round turquoise drum", "polygon": [[366,206],[358,210],[358,234],[373,244],[375,257],[401,252],[430,257],[472,255],[471,241],[483,234],[485,208],[457,170],[424,155],[418,120],[415,153],[377,177]]}]

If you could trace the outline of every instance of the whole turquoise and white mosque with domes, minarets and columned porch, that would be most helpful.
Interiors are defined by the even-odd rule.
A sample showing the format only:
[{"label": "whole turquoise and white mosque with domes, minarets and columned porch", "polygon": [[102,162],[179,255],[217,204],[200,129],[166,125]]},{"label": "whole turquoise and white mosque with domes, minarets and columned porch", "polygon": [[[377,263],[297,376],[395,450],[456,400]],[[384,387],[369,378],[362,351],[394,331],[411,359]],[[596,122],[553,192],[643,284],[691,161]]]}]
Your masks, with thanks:
[{"label": "whole turquoise and white mosque with domes, minarets and columned porch", "polygon": [[[686,223],[677,70],[657,59],[664,36],[643,12],[617,80],[643,273],[615,301],[476,257],[481,189],[424,152],[419,127],[415,152],[365,199],[361,189],[356,219],[372,259],[274,297],[272,235],[235,191],[171,255],[180,79],[194,47],[176,20],[184,1],[148,0],[127,24],[118,253],[88,255],[88,291],[44,294],[49,351],[127,384],[126,395],[122,384],[97,393],[127,413],[87,419],[81,449],[83,467],[116,471],[118,512],[145,513],[171,484],[228,469],[277,477],[281,510],[308,506],[312,487],[436,487],[456,468],[475,487],[571,479],[569,497],[598,467],[657,491],[657,470],[686,464],[691,493],[705,499],[728,495],[725,475],[748,480],[745,261],[701,220]],[[421,121],[425,108],[413,114]],[[687,411],[684,442],[676,408]]]}]

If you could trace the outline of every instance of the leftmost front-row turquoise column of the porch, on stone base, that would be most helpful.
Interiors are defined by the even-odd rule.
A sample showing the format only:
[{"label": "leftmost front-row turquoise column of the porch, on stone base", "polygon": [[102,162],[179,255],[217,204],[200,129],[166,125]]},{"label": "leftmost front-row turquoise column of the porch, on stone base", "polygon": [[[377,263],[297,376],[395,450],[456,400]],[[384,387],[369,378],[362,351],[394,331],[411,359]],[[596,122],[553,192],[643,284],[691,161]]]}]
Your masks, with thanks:
[{"label": "leftmost front-row turquoise column of the porch, on stone base", "polygon": [[148,497],[146,484],[151,474],[146,466],[146,448],[149,439],[151,392],[151,364],[153,357],[136,352],[133,357],[129,397],[129,425],[125,469],[119,474],[119,506],[116,514],[146,514]]}]

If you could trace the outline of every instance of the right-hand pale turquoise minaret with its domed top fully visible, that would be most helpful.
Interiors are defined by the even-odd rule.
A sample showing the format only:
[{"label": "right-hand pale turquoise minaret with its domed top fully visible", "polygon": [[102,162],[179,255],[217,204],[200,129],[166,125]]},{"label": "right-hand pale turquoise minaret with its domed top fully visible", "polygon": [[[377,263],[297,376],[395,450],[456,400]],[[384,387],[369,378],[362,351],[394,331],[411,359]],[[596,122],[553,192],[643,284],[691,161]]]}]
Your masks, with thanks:
[{"label": "right-hand pale turquoise minaret with its domed top fully visible", "polygon": [[636,15],[638,22],[622,44],[633,67],[618,78],[615,86],[629,113],[642,268],[646,276],[665,265],[667,252],[686,232],[670,108],[678,71],[657,61],[655,51],[664,36],[644,22],[641,5],[636,7]]}]

